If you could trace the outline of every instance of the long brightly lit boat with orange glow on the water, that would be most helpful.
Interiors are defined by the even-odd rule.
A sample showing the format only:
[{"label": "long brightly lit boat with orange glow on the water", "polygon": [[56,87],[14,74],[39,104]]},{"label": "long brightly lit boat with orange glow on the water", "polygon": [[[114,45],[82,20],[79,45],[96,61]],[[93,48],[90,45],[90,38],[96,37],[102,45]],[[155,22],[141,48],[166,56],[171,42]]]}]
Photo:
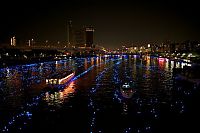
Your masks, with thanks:
[{"label": "long brightly lit boat with orange glow on the water", "polygon": [[51,78],[46,79],[46,84],[62,85],[69,82],[75,75],[75,72],[64,72],[63,74],[53,75]]}]

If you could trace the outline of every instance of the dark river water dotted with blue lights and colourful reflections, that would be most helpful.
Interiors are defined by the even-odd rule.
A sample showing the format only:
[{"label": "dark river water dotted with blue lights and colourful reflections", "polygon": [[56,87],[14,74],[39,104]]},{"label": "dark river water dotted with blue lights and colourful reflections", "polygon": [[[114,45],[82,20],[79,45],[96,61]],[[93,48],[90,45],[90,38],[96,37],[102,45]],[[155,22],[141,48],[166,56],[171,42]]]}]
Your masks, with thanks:
[{"label": "dark river water dotted with blue lights and colourful reflections", "polygon": [[[137,55],[71,58],[2,68],[1,132],[153,133],[196,129],[192,85],[174,84],[183,62]],[[47,77],[75,71],[64,88]],[[120,87],[132,81],[134,88]],[[62,86],[63,87],[63,86]],[[196,96],[196,97],[195,97]],[[194,98],[195,97],[195,98]],[[189,119],[189,117],[191,117]]]}]

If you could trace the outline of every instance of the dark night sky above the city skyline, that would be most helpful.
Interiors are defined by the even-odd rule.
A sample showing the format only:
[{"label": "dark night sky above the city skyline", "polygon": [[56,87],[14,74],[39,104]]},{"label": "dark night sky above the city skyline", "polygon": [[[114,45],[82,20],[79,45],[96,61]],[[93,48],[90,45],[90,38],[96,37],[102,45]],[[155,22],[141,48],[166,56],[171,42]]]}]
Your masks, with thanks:
[{"label": "dark night sky above the city skyline", "polygon": [[197,2],[138,1],[1,1],[0,43],[12,35],[21,42],[34,38],[65,43],[68,19],[75,28],[94,26],[94,43],[106,48],[200,40]]}]

